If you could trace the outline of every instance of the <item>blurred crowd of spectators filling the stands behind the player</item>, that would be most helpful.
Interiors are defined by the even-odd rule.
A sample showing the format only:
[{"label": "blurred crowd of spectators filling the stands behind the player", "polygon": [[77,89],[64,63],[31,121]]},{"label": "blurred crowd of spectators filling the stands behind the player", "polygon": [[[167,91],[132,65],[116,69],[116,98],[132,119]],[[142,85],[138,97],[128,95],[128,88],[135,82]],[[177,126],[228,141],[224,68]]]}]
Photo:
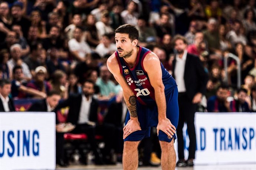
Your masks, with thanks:
[{"label": "blurred crowd of spectators filling the stands behind the player", "polygon": [[[172,39],[177,34],[187,39],[187,52],[199,57],[209,75],[199,111],[256,111],[255,0],[0,1],[1,111],[14,111],[6,105],[9,99],[45,100],[46,111],[62,108],[59,100],[70,108],[75,105],[72,100],[80,100],[86,104],[76,106],[80,110],[76,109],[75,118],[68,117],[67,121],[77,127],[94,123],[90,124],[94,127],[97,116],[91,119],[93,116],[88,115],[95,110],[86,106],[92,108],[92,98],[96,102],[113,101],[103,113],[100,131],[116,130],[121,133],[116,140],[122,142],[127,110],[122,89],[106,67],[106,60],[116,51],[114,31],[122,24],[138,27],[138,45],[157,54],[170,74],[177,54]],[[230,53],[239,58],[240,65],[229,58]],[[237,85],[238,66],[241,85]],[[81,116],[81,110],[87,118]],[[84,132],[88,127],[75,130]],[[95,143],[91,138],[90,142]],[[110,145],[106,155],[114,148]],[[101,164],[100,154],[93,147]],[[122,153],[122,148],[115,150]]]}]

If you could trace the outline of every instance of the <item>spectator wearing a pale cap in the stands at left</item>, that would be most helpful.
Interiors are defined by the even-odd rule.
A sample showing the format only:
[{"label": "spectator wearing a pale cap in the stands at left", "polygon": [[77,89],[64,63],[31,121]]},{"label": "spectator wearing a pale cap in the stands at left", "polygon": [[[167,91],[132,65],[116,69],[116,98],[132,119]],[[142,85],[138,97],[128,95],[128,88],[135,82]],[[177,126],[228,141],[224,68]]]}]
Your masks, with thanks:
[{"label": "spectator wearing a pale cap in the stands at left", "polygon": [[47,70],[45,67],[43,66],[37,67],[35,69],[35,79],[31,80],[27,84],[27,87],[36,89],[40,92],[47,94],[52,89],[52,87],[49,84],[49,82],[45,80],[46,75],[47,75]]}]

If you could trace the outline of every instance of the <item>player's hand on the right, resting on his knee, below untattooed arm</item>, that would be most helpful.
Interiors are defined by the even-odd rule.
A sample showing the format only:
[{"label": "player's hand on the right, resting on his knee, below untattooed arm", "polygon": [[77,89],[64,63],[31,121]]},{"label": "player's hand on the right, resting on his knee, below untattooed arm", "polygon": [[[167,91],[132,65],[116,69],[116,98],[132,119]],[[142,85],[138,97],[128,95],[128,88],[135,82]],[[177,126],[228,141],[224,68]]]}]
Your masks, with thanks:
[{"label": "player's hand on the right, resting on his knee, below untattooed arm", "polygon": [[167,118],[158,120],[157,125],[157,135],[159,133],[159,130],[162,130],[166,135],[173,137],[176,128],[173,124],[171,124],[171,121]]}]

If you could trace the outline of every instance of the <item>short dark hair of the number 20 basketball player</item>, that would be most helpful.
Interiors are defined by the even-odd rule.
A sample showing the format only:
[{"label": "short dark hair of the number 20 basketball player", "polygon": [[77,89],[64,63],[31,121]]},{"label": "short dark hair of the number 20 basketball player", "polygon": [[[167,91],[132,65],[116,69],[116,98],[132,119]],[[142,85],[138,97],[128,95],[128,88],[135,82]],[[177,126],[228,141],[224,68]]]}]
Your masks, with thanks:
[{"label": "short dark hair of the number 20 basketball player", "polygon": [[131,24],[124,24],[118,28],[116,28],[115,33],[128,34],[131,41],[139,39],[139,31],[138,29]]}]

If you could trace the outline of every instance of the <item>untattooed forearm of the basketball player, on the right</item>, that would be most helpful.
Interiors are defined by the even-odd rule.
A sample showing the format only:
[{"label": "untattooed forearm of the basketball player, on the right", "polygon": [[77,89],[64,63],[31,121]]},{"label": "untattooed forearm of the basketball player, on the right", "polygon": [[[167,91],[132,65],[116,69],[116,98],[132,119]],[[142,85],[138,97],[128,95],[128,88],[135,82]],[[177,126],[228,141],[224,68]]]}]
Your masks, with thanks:
[{"label": "untattooed forearm of the basketball player, on the right", "polygon": [[164,94],[164,85],[155,88],[155,102],[158,109],[158,120],[166,119],[166,100]]}]

